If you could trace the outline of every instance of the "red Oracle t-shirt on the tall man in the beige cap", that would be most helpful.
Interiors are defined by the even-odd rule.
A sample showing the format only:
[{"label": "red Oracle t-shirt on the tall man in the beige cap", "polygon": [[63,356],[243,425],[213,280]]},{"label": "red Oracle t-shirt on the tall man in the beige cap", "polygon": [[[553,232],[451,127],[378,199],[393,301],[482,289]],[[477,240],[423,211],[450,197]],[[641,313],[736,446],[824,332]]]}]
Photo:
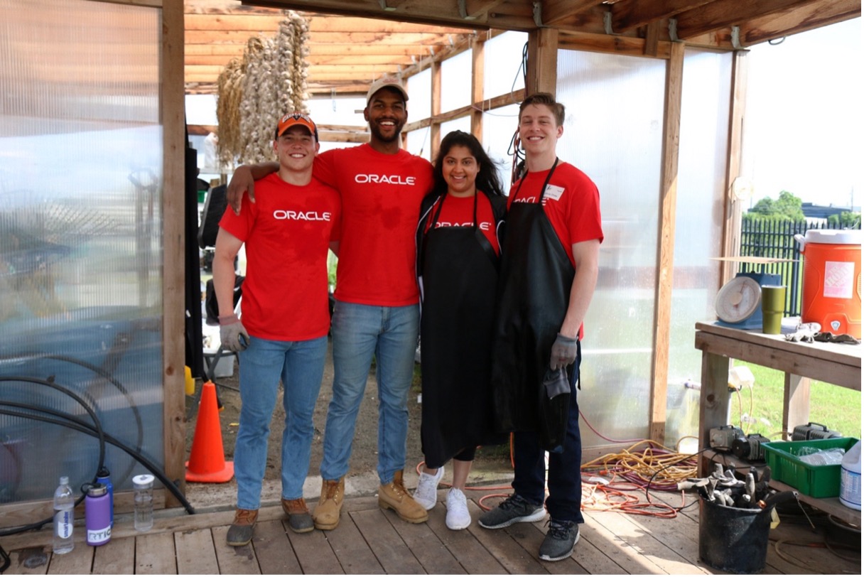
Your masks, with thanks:
[{"label": "red Oracle t-shirt on the tall man in the beige cap", "polygon": [[342,199],[336,298],[378,307],[416,304],[414,233],[432,187],[429,161],[361,144],[322,152],[313,170]]}]

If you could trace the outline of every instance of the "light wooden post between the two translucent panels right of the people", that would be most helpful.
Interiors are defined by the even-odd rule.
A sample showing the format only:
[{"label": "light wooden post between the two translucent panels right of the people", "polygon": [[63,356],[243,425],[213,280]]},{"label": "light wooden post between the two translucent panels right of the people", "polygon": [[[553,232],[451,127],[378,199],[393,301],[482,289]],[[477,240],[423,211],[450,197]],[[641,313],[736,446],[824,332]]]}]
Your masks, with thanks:
[{"label": "light wooden post between the two translucent panels right of the people", "polygon": [[651,439],[662,443],[666,431],[666,390],[669,380],[669,340],[672,310],[672,271],[675,251],[675,207],[678,181],[678,142],[681,134],[681,86],[684,44],[674,42],[666,64],[663,174],[658,225],[658,276],[654,302],[654,362],[651,377]]}]

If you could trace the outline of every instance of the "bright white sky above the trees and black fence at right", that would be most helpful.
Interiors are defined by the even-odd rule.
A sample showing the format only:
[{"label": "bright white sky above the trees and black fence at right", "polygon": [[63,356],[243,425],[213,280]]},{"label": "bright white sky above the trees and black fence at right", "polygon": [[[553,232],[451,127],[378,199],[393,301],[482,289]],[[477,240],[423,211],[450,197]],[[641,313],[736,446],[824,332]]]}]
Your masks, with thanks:
[{"label": "bright white sky above the trees and black fence at right", "polygon": [[804,202],[861,206],[861,18],[751,48],[742,176],[751,204],[783,190]]}]

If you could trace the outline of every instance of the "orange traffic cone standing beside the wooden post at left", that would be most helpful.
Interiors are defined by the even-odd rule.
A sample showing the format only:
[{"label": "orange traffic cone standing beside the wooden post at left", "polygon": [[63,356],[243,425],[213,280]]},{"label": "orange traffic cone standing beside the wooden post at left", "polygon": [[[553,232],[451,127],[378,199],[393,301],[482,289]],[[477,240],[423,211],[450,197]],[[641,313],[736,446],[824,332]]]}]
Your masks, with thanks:
[{"label": "orange traffic cone standing beside the wooden post at left", "polygon": [[201,385],[198,422],[192,452],[186,462],[186,480],[193,483],[225,483],[234,476],[234,463],[225,460],[222,428],[216,403],[216,385],[207,381]]}]

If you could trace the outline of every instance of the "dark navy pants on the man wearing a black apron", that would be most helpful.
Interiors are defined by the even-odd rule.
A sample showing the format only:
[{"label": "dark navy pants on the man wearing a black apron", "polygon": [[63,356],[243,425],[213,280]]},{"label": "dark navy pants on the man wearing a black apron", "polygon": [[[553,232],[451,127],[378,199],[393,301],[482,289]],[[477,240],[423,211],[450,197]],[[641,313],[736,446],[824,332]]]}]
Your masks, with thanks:
[{"label": "dark navy pants on the man wearing a black apron", "polygon": [[[582,518],[582,438],[579,433],[579,403],[575,382],[579,378],[579,361],[570,377],[570,405],[567,433],[561,453],[549,453],[549,498],[545,498],[546,472],[544,451],[536,433],[513,434],[513,491],[536,504],[546,502],[549,516],[556,521],[585,523]],[[544,499],[545,498],[545,499]]]}]

